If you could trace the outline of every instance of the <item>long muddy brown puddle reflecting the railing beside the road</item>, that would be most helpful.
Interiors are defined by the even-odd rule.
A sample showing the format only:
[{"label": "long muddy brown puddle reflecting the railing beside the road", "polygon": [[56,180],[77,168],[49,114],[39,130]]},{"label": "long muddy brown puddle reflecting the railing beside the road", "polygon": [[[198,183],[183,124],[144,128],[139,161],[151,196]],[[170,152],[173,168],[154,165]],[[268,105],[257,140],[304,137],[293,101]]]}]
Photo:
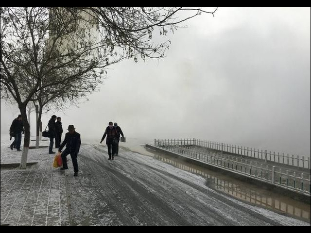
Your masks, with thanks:
[{"label": "long muddy brown puddle reflecting the railing beside the road", "polygon": [[184,162],[169,155],[163,155],[155,151],[150,152],[153,156],[167,164],[180,169],[203,176],[206,178],[206,185],[219,190],[231,197],[255,204],[278,213],[283,213],[310,223],[310,205],[304,202],[293,200],[289,197],[274,193],[271,190],[261,189],[254,184],[249,184],[208,170],[205,167],[196,166]]}]

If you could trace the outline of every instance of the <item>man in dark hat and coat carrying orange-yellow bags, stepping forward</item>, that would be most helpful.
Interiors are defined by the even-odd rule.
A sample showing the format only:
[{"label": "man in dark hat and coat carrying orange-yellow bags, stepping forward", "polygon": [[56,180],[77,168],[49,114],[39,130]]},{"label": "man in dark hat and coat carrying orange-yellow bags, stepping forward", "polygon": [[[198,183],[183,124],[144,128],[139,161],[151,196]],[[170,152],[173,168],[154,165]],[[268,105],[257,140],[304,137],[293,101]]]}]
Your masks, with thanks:
[{"label": "man in dark hat and coat carrying orange-yellow bags, stepping forward", "polygon": [[61,170],[68,169],[67,155],[70,154],[74,169],[73,176],[77,176],[79,171],[77,157],[81,146],[81,137],[80,133],[75,132],[75,128],[73,125],[68,126],[68,131],[69,132],[65,134],[65,139],[62,145],[60,145],[58,149],[58,152],[62,152],[62,149],[66,145],[66,149],[62,152],[63,167],[60,169]]}]

